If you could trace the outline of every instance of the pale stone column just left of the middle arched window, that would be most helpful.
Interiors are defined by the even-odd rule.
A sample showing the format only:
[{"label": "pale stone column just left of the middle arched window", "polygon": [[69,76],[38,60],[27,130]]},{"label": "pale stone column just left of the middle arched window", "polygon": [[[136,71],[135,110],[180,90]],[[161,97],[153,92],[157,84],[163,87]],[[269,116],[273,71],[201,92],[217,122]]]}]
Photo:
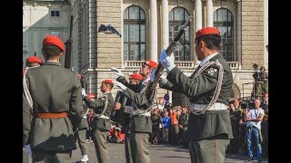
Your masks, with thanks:
[{"label": "pale stone column just left of the middle arched window", "polygon": [[162,0],[162,44],[161,51],[169,45],[169,8],[168,1]]}]

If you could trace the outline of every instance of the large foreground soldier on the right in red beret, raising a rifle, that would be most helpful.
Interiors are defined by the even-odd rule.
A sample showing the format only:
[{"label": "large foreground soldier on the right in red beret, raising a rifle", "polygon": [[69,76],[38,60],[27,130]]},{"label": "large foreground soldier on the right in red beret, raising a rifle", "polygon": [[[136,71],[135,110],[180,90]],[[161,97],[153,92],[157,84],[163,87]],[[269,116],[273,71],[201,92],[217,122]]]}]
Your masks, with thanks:
[{"label": "large foreground soldier on the right in red beret, raising a rifle", "polygon": [[[187,135],[191,162],[223,163],[229,139],[233,139],[226,106],[233,75],[229,64],[218,53],[220,42],[220,32],[216,28],[206,27],[196,32],[195,50],[201,62],[190,77],[176,67],[173,54],[167,56],[166,50],[160,54],[159,61],[167,72],[160,86],[184,93],[189,100]],[[165,83],[165,80],[168,81]]]}]

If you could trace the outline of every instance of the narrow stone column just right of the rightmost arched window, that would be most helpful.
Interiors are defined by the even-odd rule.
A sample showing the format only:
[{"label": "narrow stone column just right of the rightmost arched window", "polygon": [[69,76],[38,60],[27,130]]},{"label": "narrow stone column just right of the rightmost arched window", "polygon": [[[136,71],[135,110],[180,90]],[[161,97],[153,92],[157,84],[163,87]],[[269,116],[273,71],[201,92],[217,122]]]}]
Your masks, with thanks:
[{"label": "narrow stone column just right of the rightmost arched window", "polygon": [[242,1],[236,0],[237,3],[237,13],[236,13],[236,42],[237,42],[237,49],[236,49],[236,61],[242,62]]}]

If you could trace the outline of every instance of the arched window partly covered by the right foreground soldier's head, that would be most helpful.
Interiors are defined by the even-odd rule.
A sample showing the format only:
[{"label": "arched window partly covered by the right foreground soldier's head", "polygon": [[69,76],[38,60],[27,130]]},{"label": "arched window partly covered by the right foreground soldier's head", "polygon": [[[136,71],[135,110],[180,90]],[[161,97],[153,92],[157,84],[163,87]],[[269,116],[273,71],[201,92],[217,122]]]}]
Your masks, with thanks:
[{"label": "arched window partly covered by the right foreground soldier's head", "polygon": [[213,14],[214,26],[221,33],[219,53],[227,62],[234,61],[234,18],[226,8],[219,8]]}]

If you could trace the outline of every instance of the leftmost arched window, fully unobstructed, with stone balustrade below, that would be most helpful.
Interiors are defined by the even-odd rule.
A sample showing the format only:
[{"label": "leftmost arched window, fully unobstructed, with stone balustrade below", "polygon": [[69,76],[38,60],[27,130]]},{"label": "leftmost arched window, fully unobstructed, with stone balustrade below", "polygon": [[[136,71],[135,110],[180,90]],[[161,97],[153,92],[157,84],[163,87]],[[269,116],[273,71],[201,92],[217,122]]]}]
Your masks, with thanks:
[{"label": "leftmost arched window, fully unobstructed, with stone balustrade below", "polygon": [[124,61],[146,59],[146,14],[132,5],[124,13]]}]

